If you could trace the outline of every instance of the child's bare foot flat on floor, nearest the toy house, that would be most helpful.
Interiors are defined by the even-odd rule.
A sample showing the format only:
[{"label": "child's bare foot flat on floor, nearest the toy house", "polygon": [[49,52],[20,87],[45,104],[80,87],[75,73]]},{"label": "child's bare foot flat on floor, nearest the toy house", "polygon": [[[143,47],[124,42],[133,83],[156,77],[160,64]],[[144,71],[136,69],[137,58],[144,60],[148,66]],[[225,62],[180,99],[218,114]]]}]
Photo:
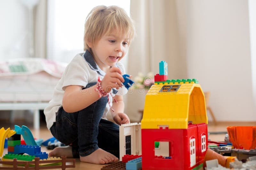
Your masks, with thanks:
[{"label": "child's bare foot flat on floor, nearest the toy house", "polygon": [[107,164],[109,162],[117,162],[118,158],[116,158],[115,155],[99,148],[88,156],[80,156],[80,161],[93,164]]}]

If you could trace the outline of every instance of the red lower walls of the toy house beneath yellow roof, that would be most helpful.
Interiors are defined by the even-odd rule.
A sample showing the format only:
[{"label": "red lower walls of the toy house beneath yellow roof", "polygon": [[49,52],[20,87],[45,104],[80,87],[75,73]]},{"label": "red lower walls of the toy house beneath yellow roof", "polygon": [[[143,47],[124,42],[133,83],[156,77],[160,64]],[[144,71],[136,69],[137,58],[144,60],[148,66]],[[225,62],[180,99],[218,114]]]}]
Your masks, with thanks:
[{"label": "red lower walls of the toy house beneath yellow roof", "polygon": [[[207,124],[188,125],[188,129],[141,129],[142,169],[144,170],[191,170],[204,162],[201,136],[205,135],[207,150]],[[195,164],[190,166],[190,139],[195,138]],[[169,142],[171,159],[155,157],[155,142]],[[192,159],[193,159],[192,158]]]}]

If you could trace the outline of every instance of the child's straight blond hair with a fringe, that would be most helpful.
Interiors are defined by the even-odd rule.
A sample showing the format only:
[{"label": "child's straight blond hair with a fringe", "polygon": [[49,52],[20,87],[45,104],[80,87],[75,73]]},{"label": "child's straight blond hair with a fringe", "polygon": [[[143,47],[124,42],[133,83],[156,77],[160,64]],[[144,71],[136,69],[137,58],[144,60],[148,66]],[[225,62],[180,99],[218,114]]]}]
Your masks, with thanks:
[{"label": "child's straight blond hair with a fringe", "polygon": [[103,35],[117,29],[122,35],[127,35],[132,41],[135,29],[132,19],[123,8],[118,6],[96,6],[86,17],[84,24],[84,51],[92,52],[87,42],[95,43]]}]

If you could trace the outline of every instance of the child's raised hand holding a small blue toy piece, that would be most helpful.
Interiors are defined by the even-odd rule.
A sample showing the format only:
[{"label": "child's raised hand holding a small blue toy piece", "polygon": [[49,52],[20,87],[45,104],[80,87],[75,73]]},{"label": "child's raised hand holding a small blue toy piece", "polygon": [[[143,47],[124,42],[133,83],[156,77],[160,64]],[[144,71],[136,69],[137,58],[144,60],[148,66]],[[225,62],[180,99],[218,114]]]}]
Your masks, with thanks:
[{"label": "child's raised hand holding a small blue toy piece", "polygon": [[124,82],[124,77],[121,70],[118,67],[112,67],[102,79],[101,86],[106,93],[109,93],[112,88],[122,87],[122,82]]}]

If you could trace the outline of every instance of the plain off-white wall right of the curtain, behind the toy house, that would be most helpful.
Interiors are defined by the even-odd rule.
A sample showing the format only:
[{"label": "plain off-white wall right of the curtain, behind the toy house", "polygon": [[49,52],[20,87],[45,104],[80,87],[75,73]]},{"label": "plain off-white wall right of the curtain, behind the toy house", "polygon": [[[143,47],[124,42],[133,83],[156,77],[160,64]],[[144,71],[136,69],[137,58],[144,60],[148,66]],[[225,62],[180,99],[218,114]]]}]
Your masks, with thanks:
[{"label": "plain off-white wall right of the curtain, behind the toy house", "polygon": [[188,76],[211,92],[217,121],[256,121],[248,1],[187,2]]}]

